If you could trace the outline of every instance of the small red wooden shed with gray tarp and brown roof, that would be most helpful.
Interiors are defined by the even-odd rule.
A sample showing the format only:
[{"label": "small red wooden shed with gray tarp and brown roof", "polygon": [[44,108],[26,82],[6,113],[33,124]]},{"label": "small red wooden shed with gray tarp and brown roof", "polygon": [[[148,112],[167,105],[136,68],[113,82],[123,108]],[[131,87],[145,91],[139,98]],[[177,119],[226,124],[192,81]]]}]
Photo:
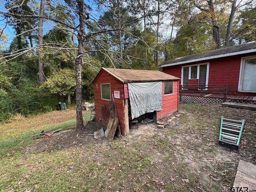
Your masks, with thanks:
[{"label": "small red wooden shed with gray tarp and brown roof", "polygon": [[153,112],[155,120],[178,111],[180,78],[153,70],[102,68],[93,81],[96,122],[107,126],[114,101],[121,134],[129,122]]}]

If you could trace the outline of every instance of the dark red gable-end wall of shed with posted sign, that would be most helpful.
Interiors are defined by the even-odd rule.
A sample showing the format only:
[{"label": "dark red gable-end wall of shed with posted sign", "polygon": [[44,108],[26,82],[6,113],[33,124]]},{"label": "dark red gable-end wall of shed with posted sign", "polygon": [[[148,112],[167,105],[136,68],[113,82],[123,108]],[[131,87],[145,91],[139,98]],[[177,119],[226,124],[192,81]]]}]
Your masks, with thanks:
[{"label": "dark red gable-end wall of shed with posted sign", "polygon": [[[119,119],[119,125],[121,129],[121,133],[125,134],[125,121],[124,121],[124,92],[123,92],[123,84],[112,75],[109,75],[106,71],[102,70],[100,74],[98,74],[97,80],[94,82],[94,102],[95,102],[95,113],[96,113],[96,122],[99,122],[103,126],[107,126],[109,118],[102,118],[102,106],[106,104],[110,109],[110,101],[101,99],[101,90],[100,84],[110,83],[110,92],[111,92],[111,100],[112,94],[114,91],[120,92],[120,99],[114,98],[114,102],[116,105],[117,116]],[[98,84],[98,89],[96,85]],[[100,121],[100,119],[102,119]]]}]

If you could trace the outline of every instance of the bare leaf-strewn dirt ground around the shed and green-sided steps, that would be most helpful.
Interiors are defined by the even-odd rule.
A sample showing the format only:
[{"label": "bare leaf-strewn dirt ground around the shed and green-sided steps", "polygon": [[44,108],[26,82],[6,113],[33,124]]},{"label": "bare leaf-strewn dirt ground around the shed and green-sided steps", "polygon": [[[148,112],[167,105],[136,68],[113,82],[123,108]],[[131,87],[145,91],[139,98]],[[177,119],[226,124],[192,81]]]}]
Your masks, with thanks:
[{"label": "bare leaf-strewn dirt ground around the shed and green-sided steps", "polygon": [[[221,116],[246,121],[238,151],[218,145]],[[115,137],[114,141],[121,142],[124,148],[130,147],[140,154],[151,156],[162,175],[173,173],[173,177],[163,181],[165,184],[182,177],[182,170],[179,172],[176,169],[184,168],[194,174],[193,181],[198,190],[209,191],[214,185],[220,185],[222,191],[229,191],[239,160],[256,164],[255,111],[222,107],[221,104],[180,104],[178,112],[159,123],[165,127],[157,128],[157,124],[152,122],[140,123],[139,128],[130,129],[128,136]],[[30,152],[46,152],[72,146],[91,145],[108,150],[111,141],[88,135],[97,130],[99,128],[88,124],[85,130],[56,132],[46,142],[39,139],[27,148],[22,158],[26,159],[26,154]],[[180,179],[181,184],[188,181],[187,178]],[[122,191],[133,191],[134,188],[129,188],[129,185],[127,181],[124,184],[126,190]]]}]

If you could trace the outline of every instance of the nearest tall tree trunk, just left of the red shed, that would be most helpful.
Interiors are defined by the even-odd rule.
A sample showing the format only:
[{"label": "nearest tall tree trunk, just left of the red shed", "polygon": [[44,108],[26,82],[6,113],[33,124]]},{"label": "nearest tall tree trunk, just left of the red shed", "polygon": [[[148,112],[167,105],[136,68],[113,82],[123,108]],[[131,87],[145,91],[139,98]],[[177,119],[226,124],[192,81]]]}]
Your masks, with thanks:
[{"label": "nearest tall tree trunk, just left of the red shed", "polygon": [[[84,10],[84,0],[77,0],[79,15],[78,32],[78,53],[76,57],[76,128],[83,129],[84,121],[82,116],[82,64],[84,54],[84,35],[86,12]],[[88,15],[87,15],[88,16]]]}]

